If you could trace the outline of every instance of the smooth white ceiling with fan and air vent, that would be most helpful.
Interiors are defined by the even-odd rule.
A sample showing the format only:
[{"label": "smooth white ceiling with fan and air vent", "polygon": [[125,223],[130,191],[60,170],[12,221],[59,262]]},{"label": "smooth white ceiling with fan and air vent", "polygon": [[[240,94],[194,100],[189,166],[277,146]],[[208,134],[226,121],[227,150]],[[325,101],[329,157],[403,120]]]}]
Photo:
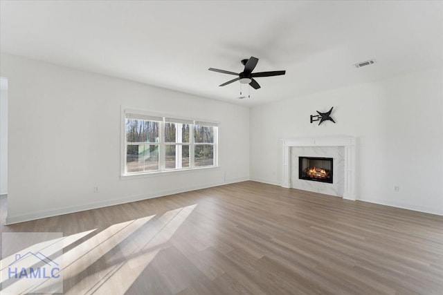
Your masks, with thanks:
[{"label": "smooth white ceiling with fan and air vent", "polygon": [[[3,1],[0,50],[255,106],[443,66],[443,1]],[[241,59],[257,57],[250,99]],[[352,64],[377,59],[377,64]]]}]

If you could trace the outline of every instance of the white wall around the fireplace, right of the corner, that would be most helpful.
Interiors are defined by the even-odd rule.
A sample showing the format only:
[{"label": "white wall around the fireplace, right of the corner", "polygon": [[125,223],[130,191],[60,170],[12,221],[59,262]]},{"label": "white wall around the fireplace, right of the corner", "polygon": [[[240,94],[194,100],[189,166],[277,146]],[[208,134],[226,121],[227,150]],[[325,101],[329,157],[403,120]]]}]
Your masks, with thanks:
[{"label": "white wall around the fireplace, right of the corner", "polygon": [[[442,85],[440,68],[257,106],[251,179],[281,184],[283,138],[351,135],[359,200],[443,215]],[[336,124],[309,123],[331,106]]]}]

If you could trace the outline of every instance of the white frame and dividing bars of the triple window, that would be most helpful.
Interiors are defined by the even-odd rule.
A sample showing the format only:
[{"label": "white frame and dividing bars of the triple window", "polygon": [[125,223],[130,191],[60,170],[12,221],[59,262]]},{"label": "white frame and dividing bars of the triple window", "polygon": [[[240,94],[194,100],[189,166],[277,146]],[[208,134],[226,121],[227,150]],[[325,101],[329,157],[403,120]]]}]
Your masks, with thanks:
[{"label": "white frame and dividing bars of the triple window", "polygon": [[[132,114],[134,117],[139,117],[141,119],[146,118],[147,120],[150,120],[150,118],[155,121],[159,122],[159,142],[152,143],[152,144],[158,144],[159,145],[159,170],[156,171],[143,171],[143,172],[136,172],[136,173],[127,173],[126,171],[126,156],[127,156],[127,136],[126,136],[126,118],[127,114]],[[166,143],[165,142],[165,124],[166,123],[175,123],[175,124],[189,124],[190,125],[190,135],[189,135],[189,143],[188,142],[171,142]],[[201,125],[201,126],[213,126],[216,127],[214,129],[214,143],[195,143],[195,125]],[[181,128],[178,128],[178,125],[176,126],[176,141],[179,141],[178,133]],[[127,178],[127,177],[137,177],[137,176],[147,176],[147,175],[159,175],[162,173],[175,173],[177,171],[193,171],[198,169],[211,169],[211,168],[218,168],[219,162],[218,162],[218,146],[219,146],[219,140],[218,140],[218,134],[219,134],[219,123],[217,122],[210,122],[208,120],[191,120],[188,118],[183,118],[179,116],[174,115],[163,115],[161,113],[153,113],[150,111],[143,111],[138,110],[134,108],[124,108],[121,109],[121,136],[120,136],[120,177]],[[180,133],[181,136],[181,133]],[[142,142],[140,144],[147,144],[146,142]],[[195,145],[201,145],[201,144],[207,144],[214,146],[214,159],[213,159],[213,165],[211,166],[195,166]],[[165,146],[166,145],[175,145],[176,151],[178,145],[188,145],[189,146],[189,167],[185,168],[175,168],[175,169],[166,169],[165,168]],[[177,157],[176,157],[176,167],[181,167],[181,159],[179,159],[180,163],[177,165]]]}]

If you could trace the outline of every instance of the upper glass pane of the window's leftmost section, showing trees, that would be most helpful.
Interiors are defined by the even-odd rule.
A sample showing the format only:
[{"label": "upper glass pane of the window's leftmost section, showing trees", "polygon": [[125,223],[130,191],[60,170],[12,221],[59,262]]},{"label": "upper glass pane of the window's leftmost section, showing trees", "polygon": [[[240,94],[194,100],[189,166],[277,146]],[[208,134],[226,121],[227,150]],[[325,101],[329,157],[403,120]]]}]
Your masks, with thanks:
[{"label": "upper glass pane of the window's leftmost section, showing trees", "polygon": [[159,122],[126,119],[127,142],[159,142]]}]

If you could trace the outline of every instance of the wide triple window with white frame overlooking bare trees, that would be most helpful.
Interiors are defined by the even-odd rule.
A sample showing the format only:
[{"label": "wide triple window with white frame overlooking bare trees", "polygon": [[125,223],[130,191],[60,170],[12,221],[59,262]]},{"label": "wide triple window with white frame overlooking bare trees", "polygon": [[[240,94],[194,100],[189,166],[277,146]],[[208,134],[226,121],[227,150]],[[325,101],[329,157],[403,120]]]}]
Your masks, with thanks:
[{"label": "wide triple window with white frame overlooking bare trees", "polygon": [[217,166],[217,124],[124,114],[123,175]]}]

